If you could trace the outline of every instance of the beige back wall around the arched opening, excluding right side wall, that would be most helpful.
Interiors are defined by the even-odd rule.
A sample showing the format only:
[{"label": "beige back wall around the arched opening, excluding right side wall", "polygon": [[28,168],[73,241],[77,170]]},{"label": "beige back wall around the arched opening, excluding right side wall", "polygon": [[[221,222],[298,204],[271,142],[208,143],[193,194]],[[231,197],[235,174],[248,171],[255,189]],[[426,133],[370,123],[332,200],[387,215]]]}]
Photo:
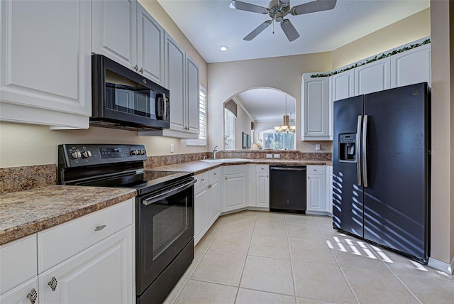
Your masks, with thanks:
[{"label": "beige back wall around the arched opening, excluding right side wall", "polygon": [[[331,69],[331,53],[212,63],[209,79],[209,146],[223,146],[223,103],[240,92],[257,87],[278,89],[297,99],[297,138],[301,138],[301,75]],[[300,151],[315,151],[300,140]],[[331,151],[331,142],[322,146]]]}]

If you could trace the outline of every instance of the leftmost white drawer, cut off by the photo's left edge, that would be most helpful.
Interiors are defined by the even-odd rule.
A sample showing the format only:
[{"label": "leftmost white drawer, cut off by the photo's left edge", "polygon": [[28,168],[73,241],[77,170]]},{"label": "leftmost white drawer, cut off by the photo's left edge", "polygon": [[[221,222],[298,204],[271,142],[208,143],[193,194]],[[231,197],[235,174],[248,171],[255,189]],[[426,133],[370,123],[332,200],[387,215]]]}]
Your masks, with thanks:
[{"label": "leftmost white drawer, cut off by the photo's left edge", "polygon": [[36,276],[36,234],[0,246],[0,294]]}]

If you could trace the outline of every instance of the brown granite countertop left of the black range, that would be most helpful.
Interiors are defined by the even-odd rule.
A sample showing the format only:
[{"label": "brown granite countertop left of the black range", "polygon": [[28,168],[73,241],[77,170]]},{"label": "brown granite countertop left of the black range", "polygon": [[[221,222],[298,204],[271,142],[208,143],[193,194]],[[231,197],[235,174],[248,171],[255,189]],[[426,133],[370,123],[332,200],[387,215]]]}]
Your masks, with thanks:
[{"label": "brown granite countertop left of the black range", "polygon": [[0,245],[136,195],[131,188],[52,185],[0,195]]}]

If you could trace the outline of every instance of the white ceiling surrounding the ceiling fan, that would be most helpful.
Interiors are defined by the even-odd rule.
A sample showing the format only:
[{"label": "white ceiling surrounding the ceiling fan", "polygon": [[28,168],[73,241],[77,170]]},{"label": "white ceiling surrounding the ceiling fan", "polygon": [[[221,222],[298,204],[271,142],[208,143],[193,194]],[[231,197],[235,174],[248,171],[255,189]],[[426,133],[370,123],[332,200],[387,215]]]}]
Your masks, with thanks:
[{"label": "white ceiling surrounding the ceiling fan", "polygon": [[[330,11],[287,15],[301,35],[289,42],[279,23],[245,41],[269,16],[238,11],[231,0],[157,0],[206,63],[270,58],[336,50],[358,38],[389,26],[430,6],[429,0],[338,0]],[[267,7],[268,0],[241,0]],[[296,6],[311,0],[291,0]],[[221,52],[221,45],[228,46]]]}]

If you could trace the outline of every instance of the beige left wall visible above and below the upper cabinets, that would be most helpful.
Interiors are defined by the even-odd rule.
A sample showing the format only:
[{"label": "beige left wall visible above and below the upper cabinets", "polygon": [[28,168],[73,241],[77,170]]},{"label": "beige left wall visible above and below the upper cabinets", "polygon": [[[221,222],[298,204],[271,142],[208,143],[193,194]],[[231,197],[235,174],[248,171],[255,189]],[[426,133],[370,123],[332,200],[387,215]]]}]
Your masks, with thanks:
[{"label": "beige left wall visible above and below the upper cabinets", "polygon": [[[208,87],[206,63],[189,40],[155,0],[140,0],[158,23],[170,33],[179,45],[199,65],[200,84]],[[57,145],[60,143],[140,143],[149,156],[207,151],[207,147],[186,146],[184,140],[159,136],[139,137],[136,131],[91,127],[88,130],[51,131],[48,126],[0,122],[0,167],[42,165],[57,163]]]}]

